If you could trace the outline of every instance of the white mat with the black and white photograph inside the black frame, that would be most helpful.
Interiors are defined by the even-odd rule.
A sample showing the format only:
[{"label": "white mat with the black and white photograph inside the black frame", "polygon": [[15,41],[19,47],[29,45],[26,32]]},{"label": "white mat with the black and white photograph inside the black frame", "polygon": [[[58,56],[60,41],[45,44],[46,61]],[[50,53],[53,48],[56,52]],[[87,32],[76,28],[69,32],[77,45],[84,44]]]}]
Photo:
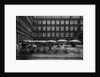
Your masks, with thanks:
[{"label": "white mat with the black and white photograph inside the black frame", "polygon": [[5,72],[95,72],[95,5],[5,5]]}]

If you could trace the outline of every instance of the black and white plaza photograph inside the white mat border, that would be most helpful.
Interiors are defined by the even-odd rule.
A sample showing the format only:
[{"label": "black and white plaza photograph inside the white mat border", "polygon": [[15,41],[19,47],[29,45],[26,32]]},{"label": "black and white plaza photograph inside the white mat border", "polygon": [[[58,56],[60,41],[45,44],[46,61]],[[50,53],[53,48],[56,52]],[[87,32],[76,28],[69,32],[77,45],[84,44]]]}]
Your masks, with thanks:
[{"label": "black and white plaza photograph inside the white mat border", "polygon": [[16,60],[83,60],[83,16],[16,16]]}]

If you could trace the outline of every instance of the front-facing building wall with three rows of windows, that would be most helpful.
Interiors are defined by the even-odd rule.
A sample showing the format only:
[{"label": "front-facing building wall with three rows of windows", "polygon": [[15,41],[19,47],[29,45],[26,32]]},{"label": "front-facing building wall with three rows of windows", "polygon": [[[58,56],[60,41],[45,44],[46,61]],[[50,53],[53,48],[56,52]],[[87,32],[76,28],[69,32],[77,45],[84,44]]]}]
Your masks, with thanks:
[{"label": "front-facing building wall with three rows of windows", "polygon": [[83,33],[83,17],[33,17],[34,39],[74,39]]}]

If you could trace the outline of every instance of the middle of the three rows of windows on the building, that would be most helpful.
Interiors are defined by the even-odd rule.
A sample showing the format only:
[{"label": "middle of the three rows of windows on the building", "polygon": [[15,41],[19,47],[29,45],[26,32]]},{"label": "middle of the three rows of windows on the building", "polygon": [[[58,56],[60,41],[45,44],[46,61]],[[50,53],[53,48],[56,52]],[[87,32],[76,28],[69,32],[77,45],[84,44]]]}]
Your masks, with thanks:
[{"label": "middle of the three rows of windows on the building", "polygon": [[[77,26],[34,26],[34,31],[77,31]],[[83,27],[80,27],[80,31],[83,31]]]}]

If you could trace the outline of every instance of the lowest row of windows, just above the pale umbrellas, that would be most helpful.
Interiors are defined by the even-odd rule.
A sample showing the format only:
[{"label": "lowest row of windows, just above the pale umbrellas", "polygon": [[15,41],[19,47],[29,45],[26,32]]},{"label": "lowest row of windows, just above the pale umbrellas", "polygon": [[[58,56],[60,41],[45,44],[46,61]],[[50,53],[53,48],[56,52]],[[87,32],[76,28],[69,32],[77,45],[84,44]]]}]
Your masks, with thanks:
[{"label": "lowest row of windows, just above the pale umbrellas", "polygon": [[74,37],[74,33],[73,32],[43,32],[43,33],[33,33],[33,37]]}]

